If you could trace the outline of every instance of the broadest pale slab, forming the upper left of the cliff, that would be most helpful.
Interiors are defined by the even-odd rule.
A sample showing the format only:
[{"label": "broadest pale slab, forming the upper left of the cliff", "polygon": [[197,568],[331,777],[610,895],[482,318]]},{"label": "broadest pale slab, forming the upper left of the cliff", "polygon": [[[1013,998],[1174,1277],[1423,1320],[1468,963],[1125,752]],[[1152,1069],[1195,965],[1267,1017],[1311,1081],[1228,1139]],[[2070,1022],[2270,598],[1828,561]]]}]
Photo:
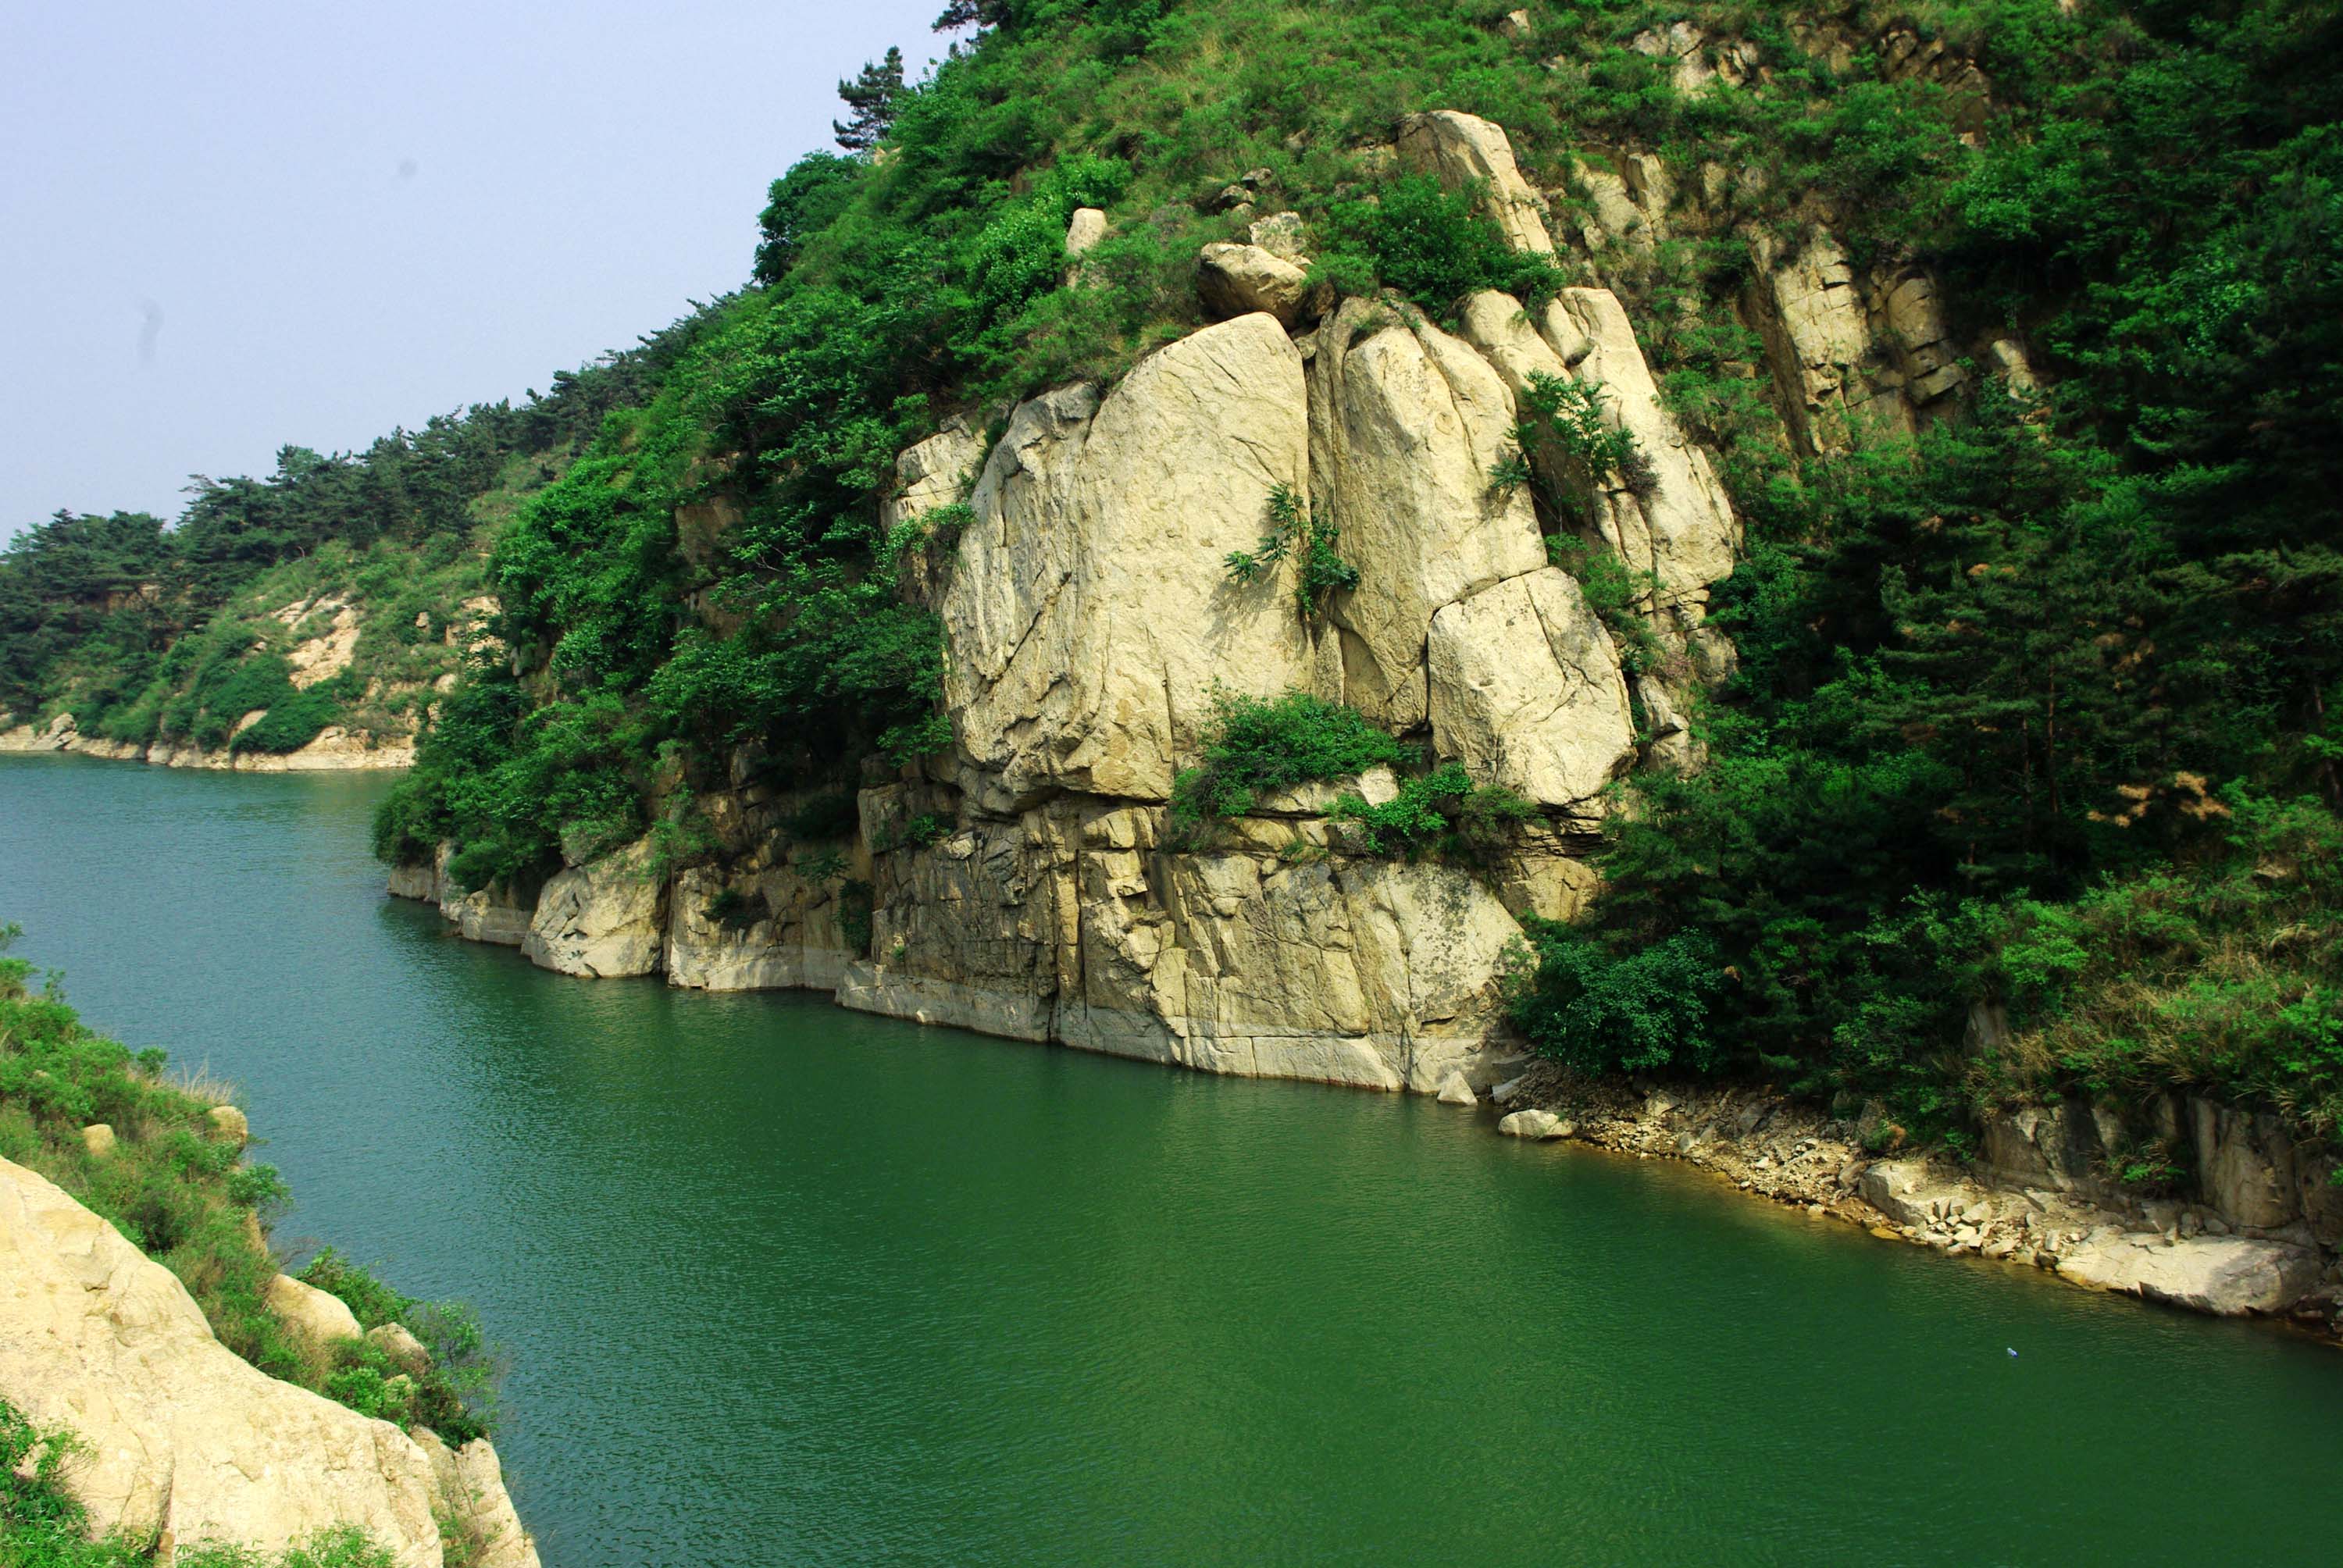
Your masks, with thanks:
[{"label": "broadest pale slab, forming the upper left of the cliff", "polygon": [[1303,361],[1265,312],[1174,342],[1104,401],[1066,387],[1017,410],[942,602],[975,804],[1167,799],[1216,682],[1310,684],[1291,567],[1232,584],[1225,563],[1279,485],[1310,495]]}]

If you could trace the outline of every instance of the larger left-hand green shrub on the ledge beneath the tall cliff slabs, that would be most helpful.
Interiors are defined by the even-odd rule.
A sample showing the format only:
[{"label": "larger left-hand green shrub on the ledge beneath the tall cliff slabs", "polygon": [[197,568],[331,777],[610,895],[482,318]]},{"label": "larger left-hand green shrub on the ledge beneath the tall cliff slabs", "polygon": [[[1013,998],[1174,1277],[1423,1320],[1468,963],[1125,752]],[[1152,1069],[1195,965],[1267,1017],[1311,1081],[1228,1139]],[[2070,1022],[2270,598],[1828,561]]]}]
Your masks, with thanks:
[{"label": "larger left-hand green shrub on the ledge beneath the tall cliff slabs", "polygon": [[1357,778],[1373,766],[1399,766],[1408,755],[1357,708],[1307,691],[1258,698],[1214,689],[1204,764],[1181,771],[1172,785],[1172,825],[1195,832],[1214,818],[1244,816],[1261,795]]}]

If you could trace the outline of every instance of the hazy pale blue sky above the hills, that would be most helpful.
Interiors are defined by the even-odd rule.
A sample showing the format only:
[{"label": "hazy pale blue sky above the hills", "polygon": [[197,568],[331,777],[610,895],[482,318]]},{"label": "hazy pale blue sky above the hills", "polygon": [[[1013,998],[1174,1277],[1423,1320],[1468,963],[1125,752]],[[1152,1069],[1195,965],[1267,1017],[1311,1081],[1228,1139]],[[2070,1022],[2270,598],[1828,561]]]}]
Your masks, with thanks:
[{"label": "hazy pale blue sky above the hills", "polygon": [[0,0],[0,534],[176,516],[747,277],[836,80],[942,0]]}]

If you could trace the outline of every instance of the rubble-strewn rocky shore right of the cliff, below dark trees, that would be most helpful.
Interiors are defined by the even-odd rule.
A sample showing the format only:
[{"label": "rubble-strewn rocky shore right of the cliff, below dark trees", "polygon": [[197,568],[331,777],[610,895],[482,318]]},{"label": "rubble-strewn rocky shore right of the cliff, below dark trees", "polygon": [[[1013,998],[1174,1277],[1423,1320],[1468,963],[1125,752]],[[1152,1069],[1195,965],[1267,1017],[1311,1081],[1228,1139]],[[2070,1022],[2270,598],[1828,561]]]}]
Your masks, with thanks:
[{"label": "rubble-strewn rocky shore right of the cliff, below dark trees", "polygon": [[[1680,1160],[1739,1191],[1945,1256],[2038,1268],[2085,1289],[2216,1317],[2268,1317],[2343,1341],[2343,1186],[2277,1118],[2177,1106],[2195,1144],[2193,1198],[2134,1195],[2081,1148],[2090,1109],[2001,1111],[1982,1155],[1895,1148],[1879,1106],[1853,1118],[1760,1088],[1591,1083],[1537,1064],[1490,1095],[1497,1132]],[[2099,1172],[2081,1158],[2102,1160]],[[1999,1163],[1996,1163],[1999,1160]]]}]

